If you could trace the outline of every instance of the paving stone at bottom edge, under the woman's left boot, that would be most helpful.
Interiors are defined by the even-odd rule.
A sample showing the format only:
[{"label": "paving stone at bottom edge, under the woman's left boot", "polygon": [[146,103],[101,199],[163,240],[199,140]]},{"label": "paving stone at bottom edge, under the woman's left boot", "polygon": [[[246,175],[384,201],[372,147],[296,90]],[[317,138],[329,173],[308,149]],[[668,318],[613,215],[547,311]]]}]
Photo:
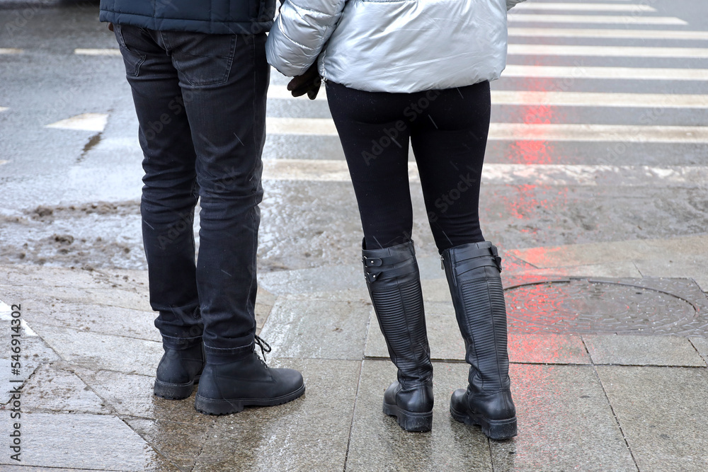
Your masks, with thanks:
[{"label": "paving stone at bottom edge, under the woman's left boot", "polygon": [[346,471],[491,471],[489,444],[479,427],[450,418],[449,399],[467,380],[464,364],[436,362],[432,432],[406,432],[381,411],[384,390],[396,379],[391,362],[362,366]]}]

